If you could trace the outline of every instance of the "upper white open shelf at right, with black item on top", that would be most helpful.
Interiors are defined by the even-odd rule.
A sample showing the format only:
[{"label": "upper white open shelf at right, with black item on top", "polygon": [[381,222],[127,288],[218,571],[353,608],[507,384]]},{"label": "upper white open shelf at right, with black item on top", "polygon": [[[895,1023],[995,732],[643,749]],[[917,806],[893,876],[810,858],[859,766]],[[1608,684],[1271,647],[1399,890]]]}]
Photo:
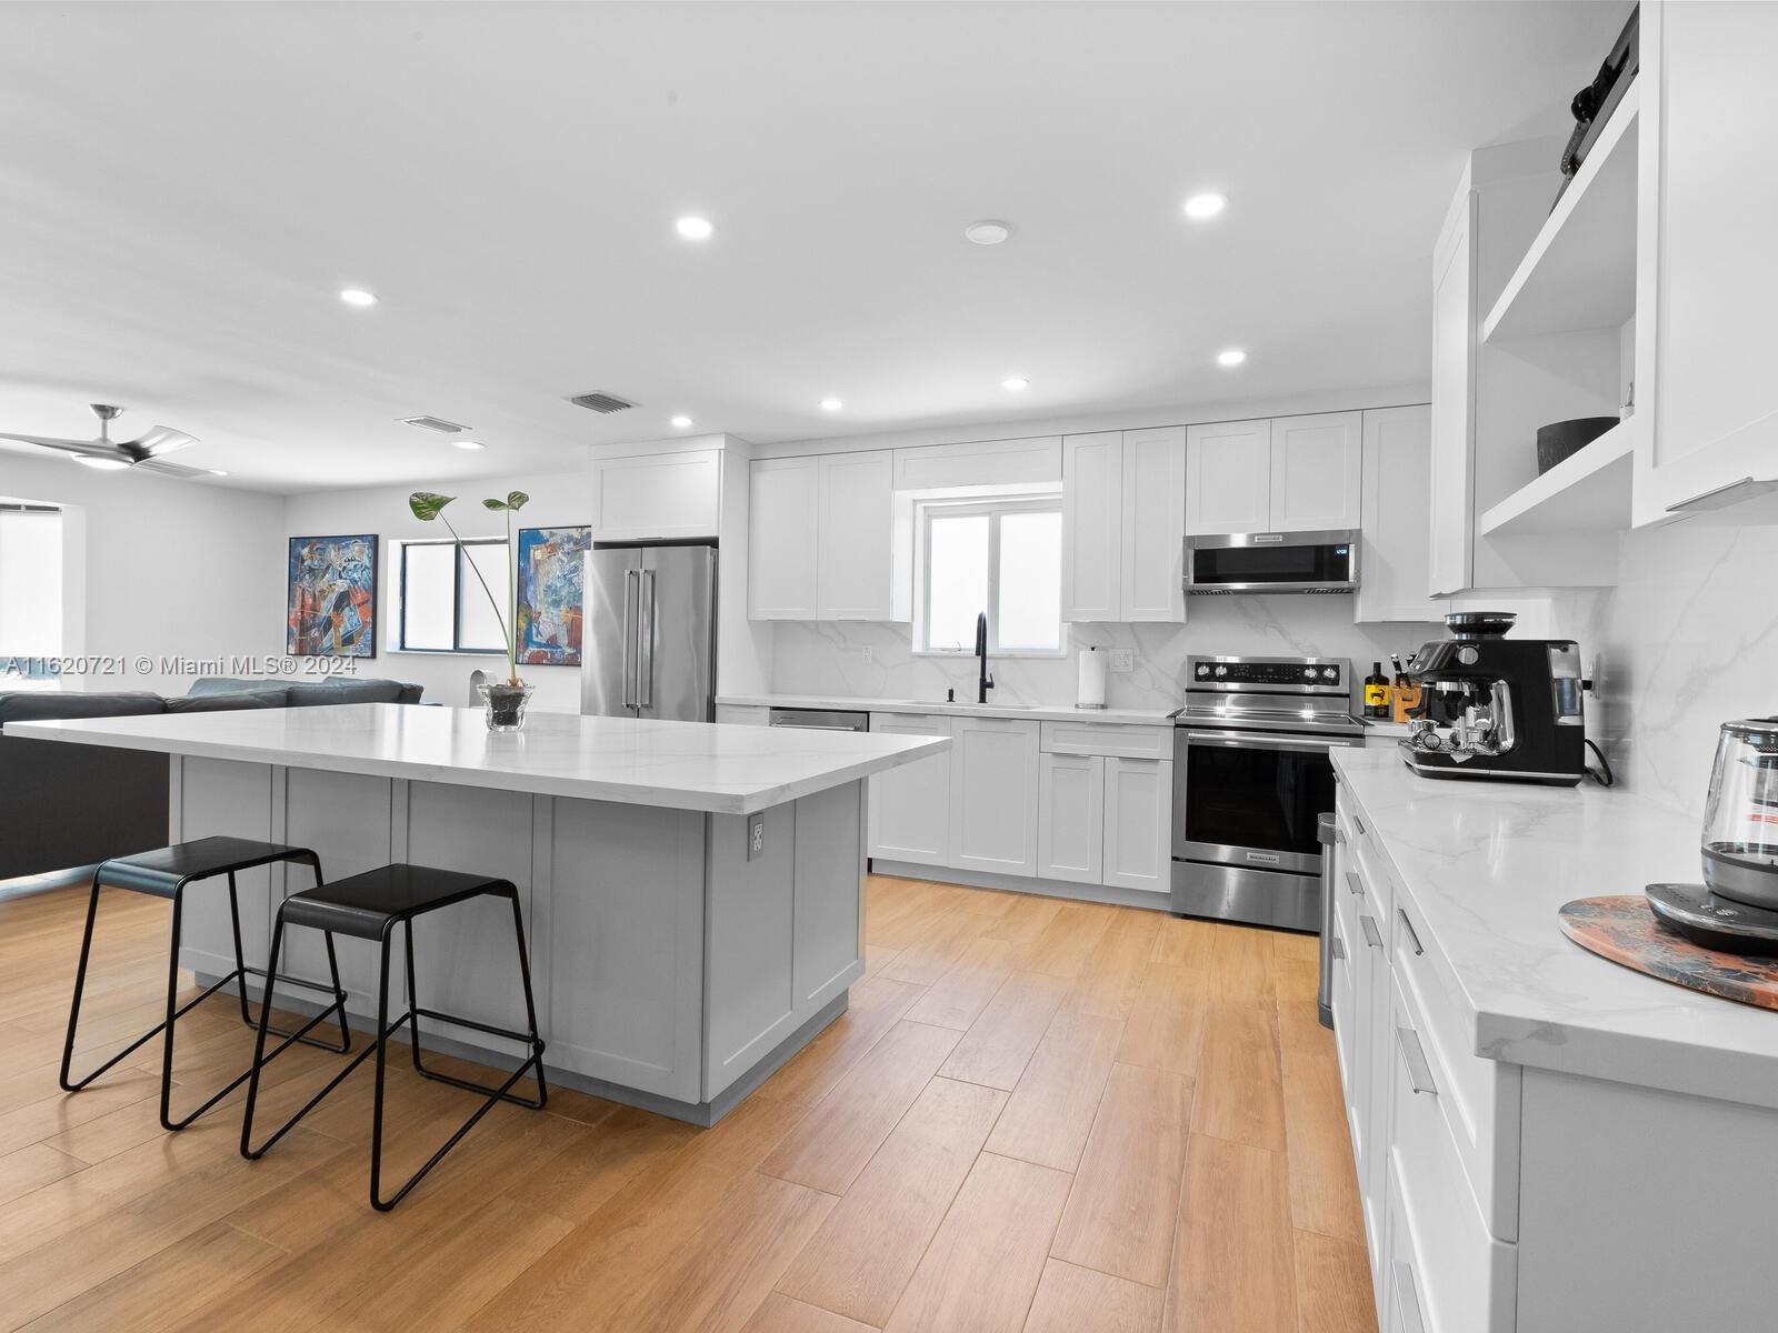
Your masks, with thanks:
[{"label": "upper white open shelf at right, with black item on top", "polygon": [[1614,329],[1636,315],[1639,108],[1641,85],[1630,84],[1483,320],[1483,341]]}]

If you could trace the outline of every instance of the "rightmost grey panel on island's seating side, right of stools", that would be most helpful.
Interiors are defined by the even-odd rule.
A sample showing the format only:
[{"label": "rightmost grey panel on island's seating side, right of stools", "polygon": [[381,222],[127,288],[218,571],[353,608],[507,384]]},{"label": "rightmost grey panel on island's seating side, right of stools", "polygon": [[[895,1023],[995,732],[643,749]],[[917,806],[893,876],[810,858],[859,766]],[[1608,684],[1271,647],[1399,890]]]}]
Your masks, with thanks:
[{"label": "rightmost grey panel on island's seating side, right of stools", "polygon": [[532,969],[544,1063],[677,1102],[702,1100],[704,816],[551,802],[548,905]]}]

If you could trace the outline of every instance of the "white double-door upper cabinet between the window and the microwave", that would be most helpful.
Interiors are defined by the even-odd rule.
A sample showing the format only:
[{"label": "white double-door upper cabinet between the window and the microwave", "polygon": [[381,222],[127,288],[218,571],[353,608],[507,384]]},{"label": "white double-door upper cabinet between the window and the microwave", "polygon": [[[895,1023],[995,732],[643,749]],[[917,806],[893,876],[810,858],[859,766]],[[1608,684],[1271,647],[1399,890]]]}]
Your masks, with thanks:
[{"label": "white double-door upper cabinet between the window and the microwave", "polygon": [[1061,619],[1184,620],[1184,427],[1065,435],[1061,478]]}]

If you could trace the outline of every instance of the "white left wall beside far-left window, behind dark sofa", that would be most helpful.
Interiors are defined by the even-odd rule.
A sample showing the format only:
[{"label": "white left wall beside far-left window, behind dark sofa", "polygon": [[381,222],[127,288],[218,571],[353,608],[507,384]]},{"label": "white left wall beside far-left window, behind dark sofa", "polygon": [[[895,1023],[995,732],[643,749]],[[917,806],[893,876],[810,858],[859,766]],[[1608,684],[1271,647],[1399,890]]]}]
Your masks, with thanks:
[{"label": "white left wall beside far-left window, behind dark sofa", "polygon": [[123,659],[85,688],[185,693],[164,658],[284,651],[281,496],[11,451],[0,496],[68,514],[62,652]]}]

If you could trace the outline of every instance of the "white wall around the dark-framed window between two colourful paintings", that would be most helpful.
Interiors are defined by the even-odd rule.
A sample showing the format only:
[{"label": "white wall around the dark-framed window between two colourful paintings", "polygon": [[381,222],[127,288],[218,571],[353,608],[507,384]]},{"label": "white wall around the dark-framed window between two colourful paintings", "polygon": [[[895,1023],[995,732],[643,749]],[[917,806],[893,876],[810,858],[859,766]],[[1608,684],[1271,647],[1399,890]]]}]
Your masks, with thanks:
[{"label": "white wall around the dark-framed window between two colourful paintings", "polygon": [[[379,560],[382,571],[377,585],[377,659],[359,663],[359,675],[389,675],[398,681],[412,681],[425,686],[425,702],[446,704],[450,707],[468,707],[469,674],[477,668],[494,679],[505,677],[507,659],[501,654],[439,654],[439,652],[402,652],[398,642],[400,603],[400,553],[398,540],[414,539],[450,539],[443,523],[421,523],[407,508],[407,496],[414,491],[443,491],[457,496],[446,514],[457,526],[457,533],[469,540],[473,537],[503,537],[503,515],[482,508],[484,496],[505,496],[509,491],[523,491],[532,499],[514,515],[512,530],[519,528],[574,528],[585,526],[592,515],[592,475],[585,466],[553,475],[530,476],[494,476],[478,482],[453,482],[434,485],[416,480],[411,485],[366,487],[361,491],[316,491],[304,496],[290,496],[279,517],[279,546],[288,537],[332,537],[345,533],[377,533]],[[279,571],[277,583],[268,597],[276,603],[283,597],[284,574]],[[500,588],[494,588],[500,595]],[[525,666],[519,672],[530,681],[537,693],[532,707],[542,713],[578,713],[580,711],[580,668],[578,666]]]}]

